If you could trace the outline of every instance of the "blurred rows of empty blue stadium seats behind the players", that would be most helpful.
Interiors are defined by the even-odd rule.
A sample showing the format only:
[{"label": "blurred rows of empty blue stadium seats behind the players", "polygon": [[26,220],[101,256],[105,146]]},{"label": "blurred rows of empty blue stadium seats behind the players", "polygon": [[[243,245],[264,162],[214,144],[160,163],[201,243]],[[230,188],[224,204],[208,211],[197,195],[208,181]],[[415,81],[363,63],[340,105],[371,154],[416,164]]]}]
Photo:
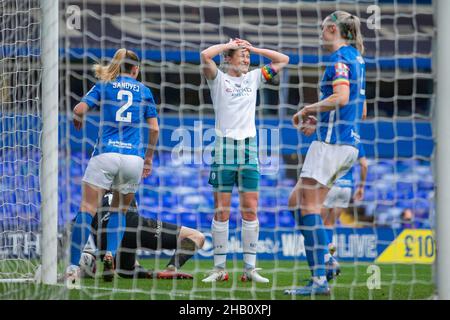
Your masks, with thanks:
[{"label": "blurred rows of empty blue stadium seats behind the players", "polygon": [[[58,223],[61,227],[78,211],[81,179],[87,160],[88,156],[74,153],[70,167],[59,172],[59,184],[63,187],[59,194]],[[14,175],[15,169],[14,166],[6,165],[0,168],[1,223],[8,220],[37,225],[41,201],[39,180],[37,176]],[[186,166],[173,162],[170,153],[155,156],[153,174],[143,181],[143,187],[137,195],[141,215],[208,229],[214,213],[208,174],[207,166]],[[355,181],[358,181],[359,169],[354,170],[353,174]],[[289,193],[295,183],[293,179],[281,179],[276,175],[261,176],[261,227],[294,226],[292,214],[286,208]],[[31,191],[21,189],[21,185],[28,186],[27,190]],[[360,205],[367,207],[368,214],[373,214],[379,225],[393,225],[399,220],[403,210],[411,209],[420,222],[419,226],[429,226],[433,220],[433,197],[434,183],[430,163],[419,160],[370,160],[365,199]],[[237,192],[233,193],[232,206],[230,227],[234,228],[240,225]]]}]

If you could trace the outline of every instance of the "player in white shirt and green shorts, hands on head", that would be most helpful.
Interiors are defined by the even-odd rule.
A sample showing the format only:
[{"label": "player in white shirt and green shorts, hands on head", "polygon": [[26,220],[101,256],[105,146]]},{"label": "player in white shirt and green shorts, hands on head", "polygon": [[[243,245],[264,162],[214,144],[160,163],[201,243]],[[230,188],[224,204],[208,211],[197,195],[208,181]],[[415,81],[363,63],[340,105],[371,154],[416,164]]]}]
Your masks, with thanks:
[{"label": "player in white shirt and green shorts, hands on head", "polygon": [[[225,72],[213,58],[225,55]],[[249,71],[250,54],[262,55],[271,63]],[[289,62],[289,57],[268,49],[253,47],[248,41],[230,40],[201,53],[202,73],[211,90],[215,111],[216,141],[209,183],[214,188],[215,215],[211,233],[214,245],[214,270],[203,282],[228,280],[226,255],[231,194],[238,186],[242,216],[244,273],[242,281],[267,283],[256,268],[259,236],[257,217],[259,167],[256,142],[255,109],[260,85],[270,81]]]}]

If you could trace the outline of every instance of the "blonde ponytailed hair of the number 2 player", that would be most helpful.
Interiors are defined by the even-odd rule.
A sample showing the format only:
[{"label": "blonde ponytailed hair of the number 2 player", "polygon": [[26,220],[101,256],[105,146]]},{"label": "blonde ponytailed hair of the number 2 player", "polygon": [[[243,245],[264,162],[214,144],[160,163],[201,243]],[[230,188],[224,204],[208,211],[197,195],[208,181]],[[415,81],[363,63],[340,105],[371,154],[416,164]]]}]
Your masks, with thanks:
[{"label": "blonde ponytailed hair of the number 2 player", "polygon": [[104,66],[101,64],[95,64],[93,70],[95,77],[102,81],[112,81],[122,72],[130,72],[131,67],[138,65],[137,55],[125,48],[121,48],[116,51],[111,63]]}]

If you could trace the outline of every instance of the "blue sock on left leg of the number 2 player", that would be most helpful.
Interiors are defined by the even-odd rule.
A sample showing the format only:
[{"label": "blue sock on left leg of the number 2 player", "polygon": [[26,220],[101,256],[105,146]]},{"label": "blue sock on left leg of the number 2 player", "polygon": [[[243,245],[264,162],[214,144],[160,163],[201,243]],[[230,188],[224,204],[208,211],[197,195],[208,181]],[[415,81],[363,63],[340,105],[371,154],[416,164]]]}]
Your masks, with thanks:
[{"label": "blue sock on left leg of the number 2 player", "polygon": [[92,216],[87,212],[78,212],[72,227],[70,242],[70,264],[80,265],[81,251],[91,234]]}]

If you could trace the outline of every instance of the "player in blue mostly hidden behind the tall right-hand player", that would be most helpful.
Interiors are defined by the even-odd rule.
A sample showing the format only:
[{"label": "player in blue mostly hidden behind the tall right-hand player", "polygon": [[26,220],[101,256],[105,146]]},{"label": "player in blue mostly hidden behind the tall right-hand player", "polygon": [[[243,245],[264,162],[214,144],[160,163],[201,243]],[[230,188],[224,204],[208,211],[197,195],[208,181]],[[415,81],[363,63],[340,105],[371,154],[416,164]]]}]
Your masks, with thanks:
[{"label": "player in blue mostly hidden behind the tall right-hand player", "polygon": [[[330,191],[325,198],[325,202],[322,208],[322,219],[325,225],[325,231],[327,233],[328,238],[328,251],[329,253],[325,254],[325,263],[327,264],[327,279],[332,279],[334,276],[339,275],[340,268],[336,259],[333,257],[333,254],[336,252],[336,246],[333,243],[333,228],[335,225],[336,219],[339,218],[342,210],[347,209],[349,207],[350,201],[361,201],[364,198],[364,187],[366,184],[368,164],[366,159],[366,154],[364,152],[364,147],[360,143],[358,145],[358,162],[360,165],[360,179],[356,189],[354,189],[354,181],[353,181],[353,167],[349,170],[344,176],[336,180],[333,187],[331,187]],[[354,191],[354,192],[353,192]]]}]

